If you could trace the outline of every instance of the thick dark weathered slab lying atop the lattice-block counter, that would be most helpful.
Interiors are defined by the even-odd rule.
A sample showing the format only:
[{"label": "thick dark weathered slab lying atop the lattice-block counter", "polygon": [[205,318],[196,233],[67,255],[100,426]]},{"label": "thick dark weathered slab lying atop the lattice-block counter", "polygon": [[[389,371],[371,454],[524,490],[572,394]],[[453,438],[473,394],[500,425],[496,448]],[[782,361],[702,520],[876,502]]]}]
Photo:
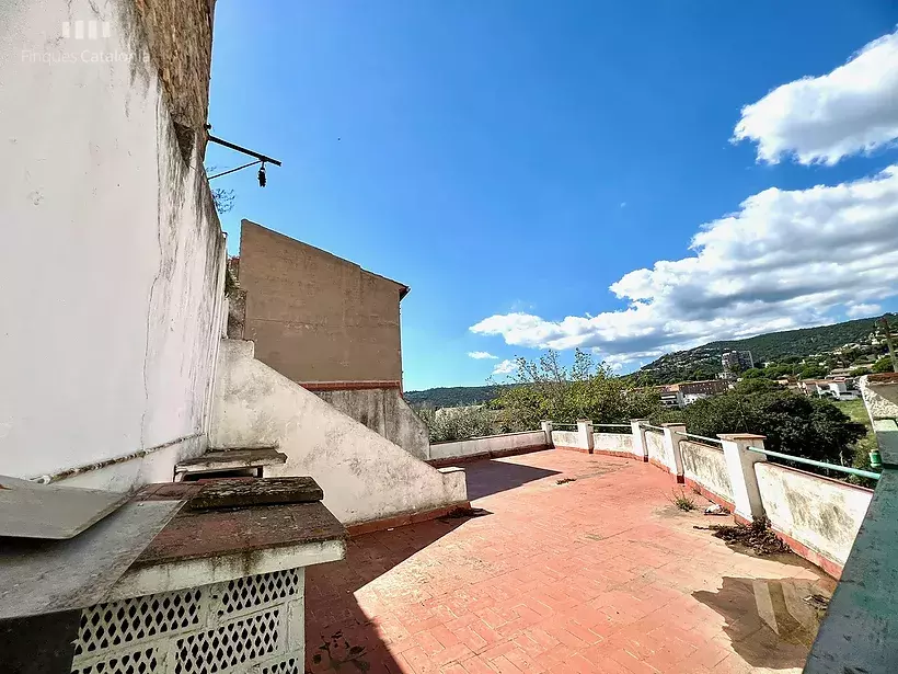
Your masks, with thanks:
[{"label": "thick dark weathered slab lying atop the lattice-block counter", "polygon": [[310,477],[219,480],[203,485],[191,499],[192,510],[246,507],[280,503],[314,503],[324,492]]}]

